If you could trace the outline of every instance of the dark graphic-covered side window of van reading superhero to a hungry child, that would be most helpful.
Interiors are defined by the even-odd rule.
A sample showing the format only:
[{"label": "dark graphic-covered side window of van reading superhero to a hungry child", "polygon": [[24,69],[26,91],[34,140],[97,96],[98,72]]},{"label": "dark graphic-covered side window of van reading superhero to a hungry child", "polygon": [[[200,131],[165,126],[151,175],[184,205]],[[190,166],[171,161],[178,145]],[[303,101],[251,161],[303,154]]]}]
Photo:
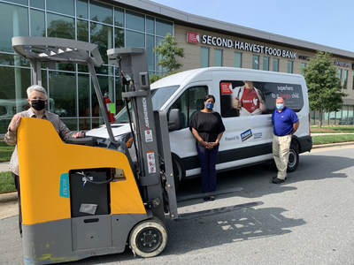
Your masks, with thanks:
[{"label": "dark graphic-covered side window of van reading superhero to a hungry child", "polygon": [[303,90],[298,84],[221,80],[219,93],[222,117],[270,114],[275,110],[275,100],[279,96],[296,112],[304,107]]}]

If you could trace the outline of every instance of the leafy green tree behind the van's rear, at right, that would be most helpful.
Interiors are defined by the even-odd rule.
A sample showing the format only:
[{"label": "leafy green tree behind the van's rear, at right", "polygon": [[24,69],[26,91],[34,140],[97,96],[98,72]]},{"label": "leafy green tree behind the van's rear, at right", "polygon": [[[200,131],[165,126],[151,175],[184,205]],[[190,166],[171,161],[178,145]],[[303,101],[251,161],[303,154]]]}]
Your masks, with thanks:
[{"label": "leafy green tree behind the van's rear, at right", "polygon": [[318,51],[316,57],[304,68],[304,79],[309,91],[311,110],[319,110],[319,128],[322,127],[323,111],[338,111],[342,108],[341,80],[329,53]]}]

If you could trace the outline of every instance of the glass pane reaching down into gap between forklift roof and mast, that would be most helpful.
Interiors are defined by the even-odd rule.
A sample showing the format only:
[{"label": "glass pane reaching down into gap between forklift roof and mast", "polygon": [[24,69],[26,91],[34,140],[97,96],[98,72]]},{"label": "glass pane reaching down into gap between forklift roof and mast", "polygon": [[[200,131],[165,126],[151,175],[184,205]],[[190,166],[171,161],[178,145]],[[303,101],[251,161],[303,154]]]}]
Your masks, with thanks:
[{"label": "glass pane reaching down into gap between forklift roof and mast", "polygon": [[[91,42],[98,45],[101,57],[104,64],[108,63],[107,49],[113,48],[113,32],[112,27],[104,26],[98,23],[90,23]],[[104,69],[97,69],[97,71],[104,71]],[[102,72],[101,72],[102,73]]]}]

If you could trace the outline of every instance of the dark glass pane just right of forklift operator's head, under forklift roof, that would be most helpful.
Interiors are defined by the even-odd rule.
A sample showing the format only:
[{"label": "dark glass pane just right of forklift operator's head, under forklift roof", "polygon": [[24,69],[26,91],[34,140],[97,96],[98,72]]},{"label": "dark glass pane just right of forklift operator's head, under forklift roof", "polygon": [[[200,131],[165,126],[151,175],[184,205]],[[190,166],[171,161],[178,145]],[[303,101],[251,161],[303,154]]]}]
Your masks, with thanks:
[{"label": "dark glass pane just right of forklift operator's head, under forklift roof", "polygon": [[60,117],[76,117],[76,78],[74,73],[49,73],[49,95],[53,99],[54,113]]}]

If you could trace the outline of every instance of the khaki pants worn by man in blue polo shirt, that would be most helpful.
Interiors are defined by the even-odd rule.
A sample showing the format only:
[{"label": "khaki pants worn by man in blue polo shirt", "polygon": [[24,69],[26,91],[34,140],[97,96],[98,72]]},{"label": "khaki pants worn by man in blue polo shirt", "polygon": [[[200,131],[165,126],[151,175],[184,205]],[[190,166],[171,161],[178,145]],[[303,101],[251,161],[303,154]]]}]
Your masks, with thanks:
[{"label": "khaki pants worn by man in blue polo shirt", "polygon": [[278,169],[277,178],[283,180],[287,177],[291,137],[291,134],[285,136],[273,135],[273,158]]}]

